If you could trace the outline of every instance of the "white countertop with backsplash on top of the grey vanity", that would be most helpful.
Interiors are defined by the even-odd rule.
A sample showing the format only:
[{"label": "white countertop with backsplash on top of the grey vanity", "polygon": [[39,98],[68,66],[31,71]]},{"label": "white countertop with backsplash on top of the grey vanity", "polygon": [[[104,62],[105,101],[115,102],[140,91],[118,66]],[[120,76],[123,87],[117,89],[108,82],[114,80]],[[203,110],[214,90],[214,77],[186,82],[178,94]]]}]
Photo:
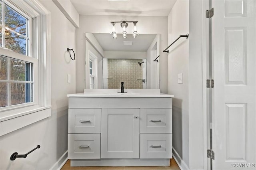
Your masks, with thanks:
[{"label": "white countertop with backsplash on top of the grey vanity", "polygon": [[68,94],[67,97],[174,97],[160,93],[160,89],[84,89],[84,93]]}]

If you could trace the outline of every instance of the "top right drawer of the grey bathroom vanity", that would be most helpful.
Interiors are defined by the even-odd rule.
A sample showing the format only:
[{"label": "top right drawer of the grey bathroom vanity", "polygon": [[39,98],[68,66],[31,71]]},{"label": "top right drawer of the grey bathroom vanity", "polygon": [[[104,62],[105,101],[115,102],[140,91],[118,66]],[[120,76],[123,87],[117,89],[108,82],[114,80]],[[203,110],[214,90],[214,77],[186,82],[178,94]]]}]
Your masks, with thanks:
[{"label": "top right drawer of the grey bathroom vanity", "polygon": [[172,109],[140,109],[140,133],[172,133]]}]

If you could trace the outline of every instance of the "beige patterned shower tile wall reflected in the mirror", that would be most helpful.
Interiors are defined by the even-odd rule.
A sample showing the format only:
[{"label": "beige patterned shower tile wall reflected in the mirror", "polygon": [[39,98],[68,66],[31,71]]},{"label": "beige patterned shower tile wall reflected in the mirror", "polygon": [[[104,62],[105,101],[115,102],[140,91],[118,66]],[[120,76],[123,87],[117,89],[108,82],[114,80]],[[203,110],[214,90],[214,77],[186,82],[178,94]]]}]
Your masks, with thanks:
[{"label": "beige patterned shower tile wall reflected in the mirror", "polygon": [[108,59],[108,89],[142,89],[142,59]]}]

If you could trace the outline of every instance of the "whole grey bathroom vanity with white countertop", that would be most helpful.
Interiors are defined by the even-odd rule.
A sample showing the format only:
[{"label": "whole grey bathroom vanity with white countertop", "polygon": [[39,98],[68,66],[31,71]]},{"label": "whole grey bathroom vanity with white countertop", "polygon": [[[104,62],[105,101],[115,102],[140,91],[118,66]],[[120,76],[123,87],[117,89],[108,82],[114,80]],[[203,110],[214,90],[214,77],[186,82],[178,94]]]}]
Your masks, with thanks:
[{"label": "whole grey bathroom vanity with white countertop", "polygon": [[159,89],[118,92],[67,95],[71,166],[169,166],[173,95]]}]

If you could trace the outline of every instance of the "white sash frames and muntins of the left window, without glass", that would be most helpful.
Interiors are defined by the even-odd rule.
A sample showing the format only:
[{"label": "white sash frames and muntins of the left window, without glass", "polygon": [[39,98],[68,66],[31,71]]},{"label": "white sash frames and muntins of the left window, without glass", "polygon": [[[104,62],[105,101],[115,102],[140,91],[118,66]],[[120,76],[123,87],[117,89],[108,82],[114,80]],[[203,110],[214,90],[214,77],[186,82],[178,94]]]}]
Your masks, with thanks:
[{"label": "white sash frames and muntins of the left window, without glass", "polygon": [[[24,12],[22,9],[18,8],[17,5],[11,3],[10,1],[7,0],[1,0],[2,1],[2,8],[4,9],[4,5],[7,5],[8,7],[10,7],[12,10],[14,10],[15,12],[17,12],[18,14],[20,14],[22,17],[26,18],[28,20],[28,22],[26,22],[26,32],[27,32],[27,36],[28,39],[26,39],[26,55],[20,54],[20,53],[16,53],[14,51],[12,51],[11,49],[8,49],[5,47],[5,35],[3,30],[5,30],[7,27],[5,26],[5,21],[4,21],[4,17],[2,18],[3,22],[2,22],[2,40],[3,40],[3,47],[0,47],[1,49],[1,55],[4,57],[7,57],[8,59],[8,79],[6,82],[11,83],[12,80],[10,80],[10,59],[16,59],[16,60],[20,60],[20,61],[25,61],[25,62],[29,62],[33,64],[33,75],[32,75],[32,79],[33,79],[33,101],[29,102],[29,103],[22,103],[22,104],[17,104],[17,105],[8,105],[5,107],[1,107],[1,112],[4,111],[9,111],[12,109],[19,109],[22,107],[28,107],[28,106],[33,106],[33,105],[38,105],[38,58],[39,56],[36,55],[36,50],[33,51],[33,37],[37,37],[38,35],[36,35],[36,32],[34,33],[33,36],[33,31],[35,29],[33,29],[33,17],[35,18],[35,16],[39,15],[38,13],[32,13],[31,11],[27,10],[27,13],[30,13],[31,15],[28,15],[26,12]],[[4,15],[4,10],[3,10],[3,16]],[[34,19],[34,22],[36,20]],[[16,34],[15,31],[11,31],[14,32],[14,34]],[[18,34],[17,34],[18,35]],[[35,76],[36,75],[36,76]],[[4,81],[0,81],[0,82],[4,82]],[[8,103],[10,104],[10,85],[8,85]],[[1,114],[1,113],[0,113]]]}]

